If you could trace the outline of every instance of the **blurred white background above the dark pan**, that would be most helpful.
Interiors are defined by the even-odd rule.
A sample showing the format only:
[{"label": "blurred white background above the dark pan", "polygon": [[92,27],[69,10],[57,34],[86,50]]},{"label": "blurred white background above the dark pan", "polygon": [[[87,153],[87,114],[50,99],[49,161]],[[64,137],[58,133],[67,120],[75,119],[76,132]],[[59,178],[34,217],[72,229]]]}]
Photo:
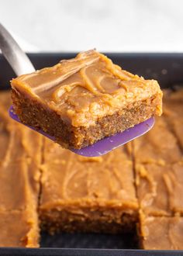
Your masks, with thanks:
[{"label": "blurred white background above the dark pan", "polygon": [[182,0],[0,0],[23,50],[183,52]]}]

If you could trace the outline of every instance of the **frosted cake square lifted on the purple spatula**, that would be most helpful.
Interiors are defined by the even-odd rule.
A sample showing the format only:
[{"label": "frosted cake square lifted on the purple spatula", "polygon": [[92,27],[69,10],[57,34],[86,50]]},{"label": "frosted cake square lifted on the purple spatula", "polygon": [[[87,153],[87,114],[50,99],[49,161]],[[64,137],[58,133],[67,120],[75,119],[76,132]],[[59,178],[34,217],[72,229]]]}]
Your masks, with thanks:
[{"label": "frosted cake square lifted on the purple spatula", "polygon": [[63,147],[86,147],[162,112],[157,81],[123,71],[95,50],[22,75],[11,85],[21,121]]}]

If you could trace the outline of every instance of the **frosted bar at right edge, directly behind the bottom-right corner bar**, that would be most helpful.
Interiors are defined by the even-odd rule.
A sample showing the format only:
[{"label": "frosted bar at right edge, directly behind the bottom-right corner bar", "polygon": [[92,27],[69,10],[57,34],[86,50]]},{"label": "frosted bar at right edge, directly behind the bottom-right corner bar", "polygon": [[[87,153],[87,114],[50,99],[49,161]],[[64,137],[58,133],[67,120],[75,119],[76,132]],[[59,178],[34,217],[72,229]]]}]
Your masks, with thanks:
[{"label": "frosted bar at right edge, directly behind the bottom-right corner bar", "polygon": [[183,213],[183,162],[136,164],[136,187],[140,208],[147,215]]}]

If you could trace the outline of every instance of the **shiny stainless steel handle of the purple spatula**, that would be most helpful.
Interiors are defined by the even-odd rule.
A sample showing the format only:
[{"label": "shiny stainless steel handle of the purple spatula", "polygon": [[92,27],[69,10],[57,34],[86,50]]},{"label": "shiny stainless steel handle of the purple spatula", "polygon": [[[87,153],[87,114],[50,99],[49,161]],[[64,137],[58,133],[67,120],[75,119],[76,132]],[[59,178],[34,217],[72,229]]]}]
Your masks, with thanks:
[{"label": "shiny stainless steel handle of the purple spatula", "polygon": [[16,75],[31,73],[35,71],[29,57],[22,51],[16,40],[13,39],[11,34],[0,23],[0,49],[2,54],[12,66]]}]

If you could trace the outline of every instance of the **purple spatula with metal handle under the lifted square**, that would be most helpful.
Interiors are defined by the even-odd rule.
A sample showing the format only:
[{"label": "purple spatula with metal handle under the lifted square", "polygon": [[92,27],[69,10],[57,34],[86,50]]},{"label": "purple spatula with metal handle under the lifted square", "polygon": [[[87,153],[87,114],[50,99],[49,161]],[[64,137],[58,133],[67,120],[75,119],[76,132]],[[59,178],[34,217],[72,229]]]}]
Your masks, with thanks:
[{"label": "purple spatula with metal handle under the lifted square", "polygon": [[[0,24],[0,49],[2,54],[5,56],[6,60],[9,61],[9,64],[12,66],[12,69],[15,71],[16,75],[26,74],[35,71],[33,64],[29,61],[29,58],[21,50],[18,43],[12,38],[10,33],[5,29],[4,26]],[[13,111],[12,106],[9,109],[9,116],[12,119],[15,119],[17,122],[21,123],[18,116],[16,116]],[[147,119],[143,123],[137,124],[133,128],[125,130],[123,133],[116,133],[116,135],[111,137],[105,137],[102,140],[99,140],[95,144],[82,148],[81,150],[72,150],[75,154],[80,154],[85,157],[97,157],[102,154],[106,154],[109,151],[120,147],[123,144],[126,144],[130,140],[135,139],[136,137],[142,136],[144,133],[147,133],[154,126],[154,117]],[[33,127],[28,126],[30,129],[35,130]],[[43,136],[48,137],[50,140],[54,140],[54,137],[51,137],[47,133],[44,133],[42,130],[36,130],[38,133],[43,134]]]}]

